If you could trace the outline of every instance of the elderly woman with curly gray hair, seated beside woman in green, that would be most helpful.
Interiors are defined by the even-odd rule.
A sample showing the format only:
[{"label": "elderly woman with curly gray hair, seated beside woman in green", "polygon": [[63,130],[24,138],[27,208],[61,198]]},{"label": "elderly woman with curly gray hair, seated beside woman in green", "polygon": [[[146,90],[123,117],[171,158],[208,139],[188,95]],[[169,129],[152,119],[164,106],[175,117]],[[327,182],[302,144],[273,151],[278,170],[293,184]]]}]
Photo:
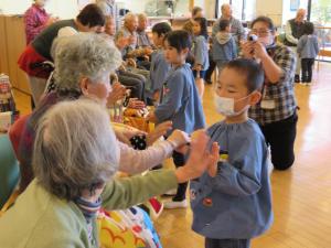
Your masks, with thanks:
[{"label": "elderly woman with curly gray hair, seated beside woman in green", "polygon": [[[58,39],[54,45],[55,55],[55,89],[46,95],[41,105],[32,112],[21,134],[18,159],[21,165],[21,192],[34,177],[32,172],[32,147],[39,120],[50,107],[66,99],[88,97],[107,105],[111,86],[109,75],[121,62],[114,43],[98,34],[79,33]],[[156,133],[146,137],[147,143],[152,144],[156,139],[164,134],[169,123],[166,123]],[[121,141],[132,138],[132,132],[118,133]],[[186,134],[174,132],[167,141],[158,142],[148,149],[134,150],[124,142],[120,148],[120,171],[135,174],[156,166],[169,158],[173,149],[189,141]]]}]

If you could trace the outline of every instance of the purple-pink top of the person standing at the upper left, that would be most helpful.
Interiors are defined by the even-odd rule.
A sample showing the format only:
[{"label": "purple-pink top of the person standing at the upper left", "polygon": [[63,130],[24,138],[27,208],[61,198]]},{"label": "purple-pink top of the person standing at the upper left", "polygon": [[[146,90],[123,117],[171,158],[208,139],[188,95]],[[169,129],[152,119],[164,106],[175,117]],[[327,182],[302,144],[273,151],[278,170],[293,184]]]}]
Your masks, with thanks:
[{"label": "purple-pink top of the person standing at the upper left", "polygon": [[24,14],[26,44],[32,42],[34,37],[45,28],[50,18],[45,9],[41,9],[36,4],[32,4]]}]

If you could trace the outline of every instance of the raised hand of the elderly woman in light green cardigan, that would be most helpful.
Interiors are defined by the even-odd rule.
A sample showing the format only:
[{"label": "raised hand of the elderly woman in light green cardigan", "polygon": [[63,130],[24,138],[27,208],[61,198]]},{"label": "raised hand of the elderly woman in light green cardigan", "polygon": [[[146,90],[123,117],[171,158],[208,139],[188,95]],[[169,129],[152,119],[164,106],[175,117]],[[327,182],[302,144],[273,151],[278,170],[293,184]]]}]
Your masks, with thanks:
[{"label": "raised hand of the elderly woman in light green cardigan", "polygon": [[218,157],[218,144],[214,142],[209,151],[210,138],[204,130],[195,131],[192,134],[191,153],[186,164],[177,169],[175,176],[179,183],[200,177]]}]

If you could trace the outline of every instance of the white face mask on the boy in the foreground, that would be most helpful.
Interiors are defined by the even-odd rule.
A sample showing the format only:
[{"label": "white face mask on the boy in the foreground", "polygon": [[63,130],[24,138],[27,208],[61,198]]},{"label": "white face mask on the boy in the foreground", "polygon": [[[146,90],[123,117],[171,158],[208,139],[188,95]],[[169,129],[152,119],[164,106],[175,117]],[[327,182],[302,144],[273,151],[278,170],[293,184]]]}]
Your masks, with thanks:
[{"label": "white face mask on the boy in the foreground", "polygon": [[[250,94],[246,97],[243,97],[236,101],[241,101],[249,97]],[[233,116],[238,116],[242,112],[246,111],[250,105],[246,105],[242,110],[235,111],[235,99],[234,98],[227,98],[227,97],[220,97],[217,94],[214,95],[214,104],[216,111],[220,112],[223,116],[226,117],[233,117]]]}]

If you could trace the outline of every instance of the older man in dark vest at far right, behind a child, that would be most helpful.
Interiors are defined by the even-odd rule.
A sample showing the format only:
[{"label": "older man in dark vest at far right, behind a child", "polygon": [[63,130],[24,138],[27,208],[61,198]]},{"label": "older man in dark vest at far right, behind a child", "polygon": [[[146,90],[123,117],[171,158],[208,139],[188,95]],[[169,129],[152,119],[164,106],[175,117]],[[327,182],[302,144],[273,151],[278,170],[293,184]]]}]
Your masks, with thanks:
[{"label": "older man in dark vest at far right, behind a child", "polygon": [[[290,46],[296,53],[297,53],[297,44],[299,39],[303,35],[305,31],[305,18],[306,18],[306,10],[299,9],[297,11],[297,15],[295,19],[291,19],[287,21],[286,28],[285,28],[285,45]],[[300,69],[301,69],[301,63],[300,58],[297,53],[297,68],[296,68],[296,77],[295,82],[300,83]]]}]

